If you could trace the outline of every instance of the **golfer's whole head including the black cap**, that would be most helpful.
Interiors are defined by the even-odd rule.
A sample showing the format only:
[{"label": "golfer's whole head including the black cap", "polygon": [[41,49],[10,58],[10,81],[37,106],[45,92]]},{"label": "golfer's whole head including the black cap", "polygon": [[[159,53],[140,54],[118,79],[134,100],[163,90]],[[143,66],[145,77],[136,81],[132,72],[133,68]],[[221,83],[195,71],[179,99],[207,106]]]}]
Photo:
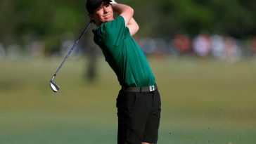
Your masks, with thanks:
[{"label": "golfer's whole head including the black cap", "polygon": [[113,20],[113,9],[110,2],[110,0],[87,0],[89,17],[96,25]]}]

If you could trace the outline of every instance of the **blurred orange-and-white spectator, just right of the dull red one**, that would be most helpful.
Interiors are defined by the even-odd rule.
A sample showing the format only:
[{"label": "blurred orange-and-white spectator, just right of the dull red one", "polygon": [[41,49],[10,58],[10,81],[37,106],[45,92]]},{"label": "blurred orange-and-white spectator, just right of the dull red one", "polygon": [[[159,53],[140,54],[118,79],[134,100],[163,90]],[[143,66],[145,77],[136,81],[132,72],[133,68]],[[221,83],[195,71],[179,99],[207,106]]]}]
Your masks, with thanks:
[{"label": "blurred orange-and-white spectator, just right of the dull red one", "polygon": [[200,57],[207,57],[210,54],[211,41],[208,34],[199,34],[193,40],[193,49]]}]

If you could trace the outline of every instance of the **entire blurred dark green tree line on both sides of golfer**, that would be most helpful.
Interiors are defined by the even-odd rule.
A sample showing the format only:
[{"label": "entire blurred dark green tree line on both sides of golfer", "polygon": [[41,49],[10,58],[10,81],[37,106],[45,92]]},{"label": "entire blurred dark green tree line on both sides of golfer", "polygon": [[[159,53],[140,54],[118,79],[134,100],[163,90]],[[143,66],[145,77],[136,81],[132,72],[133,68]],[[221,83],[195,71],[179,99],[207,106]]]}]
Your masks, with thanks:
[{"label": "entire blurred dark green tree line on both sides of golfer", "polygon": [[[205,30],[245,38],[256,35],[256,1],[249,0],[120,0],[134,8],[139,37],[170,39]],[[79,34],[89,21],[86,0],[0,0],[0,43],[24,45],[39,39],[46,52],[56,51],[65,32]],[[87,35],[87,34],[85,34]],[[75,39],[75,37],[74,37]]]}]

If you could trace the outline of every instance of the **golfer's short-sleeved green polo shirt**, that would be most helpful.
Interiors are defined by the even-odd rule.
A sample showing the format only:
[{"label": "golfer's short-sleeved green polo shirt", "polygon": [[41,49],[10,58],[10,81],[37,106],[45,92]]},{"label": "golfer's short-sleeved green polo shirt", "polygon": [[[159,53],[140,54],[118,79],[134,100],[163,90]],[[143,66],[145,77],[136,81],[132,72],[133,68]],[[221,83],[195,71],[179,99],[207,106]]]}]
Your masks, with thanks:
[{"label": "golfer's short-sleeved green polo shirt", "polygon": [[103,51],[105,60],[117,75],[121,86],[152,86],[155,77],[146,56],[129,33],[124,18],[104,22],[92,30],[94,42]]}]

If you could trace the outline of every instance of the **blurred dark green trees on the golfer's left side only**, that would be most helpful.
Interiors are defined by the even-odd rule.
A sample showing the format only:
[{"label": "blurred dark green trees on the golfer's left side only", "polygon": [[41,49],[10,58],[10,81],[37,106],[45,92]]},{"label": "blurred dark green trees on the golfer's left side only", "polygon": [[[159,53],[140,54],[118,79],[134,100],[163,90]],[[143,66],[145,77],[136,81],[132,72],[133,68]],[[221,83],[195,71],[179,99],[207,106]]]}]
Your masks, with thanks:
[{"label": "blurred dark green trees on the golfer's left side only", "polygon": [[84,0],[1,0],[0,43],[24,45],[40,39],[45,42],[46,51],[55,51],[61,34],[82,30],[86,17],[84,3]]}]

